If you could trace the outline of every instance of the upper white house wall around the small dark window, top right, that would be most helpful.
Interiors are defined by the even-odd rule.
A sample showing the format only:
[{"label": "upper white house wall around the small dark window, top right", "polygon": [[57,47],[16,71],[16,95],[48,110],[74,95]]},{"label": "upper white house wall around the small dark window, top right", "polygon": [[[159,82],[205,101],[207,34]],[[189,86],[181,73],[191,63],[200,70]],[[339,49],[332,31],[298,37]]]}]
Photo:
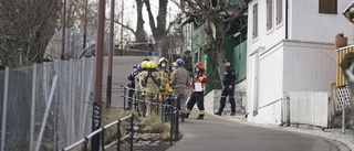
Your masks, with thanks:
[{"label": "upper white house wall around the small dark window, top right", "polygon": [[344,33],[352,44],[353,24],[342,14],[352,2],[337,0],[337,14],[326,14],[319,13],[319,0],[289,0],[289,39],[333,43],[337,33]]}]

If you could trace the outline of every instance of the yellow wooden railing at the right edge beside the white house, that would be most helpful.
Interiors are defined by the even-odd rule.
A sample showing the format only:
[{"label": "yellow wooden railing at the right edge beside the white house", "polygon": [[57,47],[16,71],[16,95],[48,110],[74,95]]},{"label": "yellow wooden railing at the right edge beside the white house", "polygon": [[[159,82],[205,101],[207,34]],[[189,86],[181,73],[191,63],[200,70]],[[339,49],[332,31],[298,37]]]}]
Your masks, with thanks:
[{"label": "yellow wooden railing at the right edge beside the white house", "polygon": [[345,46],[345,47],[341,47],[341,48],[336,50],[336,53],[335,53],[335,55],[336,55],[335,88],[347,84],[345,76],[343,74],[344,72],[342,71],[340,64],[342,63],[344,56],[350,52],[354,52],[354,45],[350,45],[350,46]]}]

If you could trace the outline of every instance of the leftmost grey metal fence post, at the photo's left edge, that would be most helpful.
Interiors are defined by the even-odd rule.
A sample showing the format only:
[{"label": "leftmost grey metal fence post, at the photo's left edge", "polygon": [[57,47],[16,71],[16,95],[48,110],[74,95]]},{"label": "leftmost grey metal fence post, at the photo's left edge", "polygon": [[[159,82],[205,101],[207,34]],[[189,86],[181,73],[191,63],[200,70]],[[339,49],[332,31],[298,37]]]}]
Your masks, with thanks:
[{"label": "leftmost grey metal fence post, at the photo's left edge", "polygon": [[7,114],[8,114],[8,90],[9,90],[9,67],[4,71],[4,87],[3,87],[3,107],[2,107],[2,128],[1,128],[1,151],[4,151],[7,138]]}]

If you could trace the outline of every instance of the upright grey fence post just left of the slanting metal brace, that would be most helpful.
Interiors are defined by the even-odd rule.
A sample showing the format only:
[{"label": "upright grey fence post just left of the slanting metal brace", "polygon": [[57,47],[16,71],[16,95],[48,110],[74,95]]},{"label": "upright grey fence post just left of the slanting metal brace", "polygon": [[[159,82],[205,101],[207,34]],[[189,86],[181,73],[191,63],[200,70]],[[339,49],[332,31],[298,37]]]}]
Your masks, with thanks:
[{"label": "upright grey fence post just left of the slanting metal brace", "polygon": [[37,64],[33,65],[32,79],[32,104],[31,104],[31,130],[30,130],[30,150],[34,150],[34,120],[35,120],[35,86],[37,86]]}]

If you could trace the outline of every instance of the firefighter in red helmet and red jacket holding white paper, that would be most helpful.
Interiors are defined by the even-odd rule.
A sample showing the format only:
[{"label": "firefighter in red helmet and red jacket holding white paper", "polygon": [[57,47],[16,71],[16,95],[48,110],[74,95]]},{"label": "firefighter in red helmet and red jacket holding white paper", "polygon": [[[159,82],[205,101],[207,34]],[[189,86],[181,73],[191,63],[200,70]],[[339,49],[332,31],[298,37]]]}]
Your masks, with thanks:
[{"label": "firefighter in red helmet and red jacket holding white paper", "polygon": [[187,103],[186,118],[189,117],[189,114],[191,112],[192,107],[197,103],[197,107],[199,109],[199,116],[197,119],[204,119],[204,115],[206,114],[206,110],[204,108],[204,91],[205,91],[207,82],[208,82],[208,78],[205,73],[204,64],[201,62],[198,62],[196,64],[196,73],[194,75],[192,83],[191,83],[192,93]]}]

